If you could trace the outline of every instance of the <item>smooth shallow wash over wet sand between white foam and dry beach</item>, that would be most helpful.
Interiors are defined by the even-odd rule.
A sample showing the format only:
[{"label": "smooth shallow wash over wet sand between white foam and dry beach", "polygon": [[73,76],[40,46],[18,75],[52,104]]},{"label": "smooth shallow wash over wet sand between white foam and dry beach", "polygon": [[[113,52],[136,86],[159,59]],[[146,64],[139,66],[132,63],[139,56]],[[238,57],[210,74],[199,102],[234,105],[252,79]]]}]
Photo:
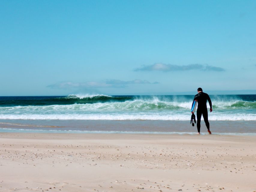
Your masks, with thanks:
[{"label": "smooth shallow wash over wet sand between white foam and dry beach", "polygon": [[[24,119],[2,119],[0,127],[9,129],[0,132],[35,132],[35,133],[88,133],[95,132],[183,132],[197,133],[196,125],[190,124],[191,115],[188,121],[160,121],[160,120],[24,120]],[[228,134],[256,134],[256,121],[210,121],[210,129],[214,133]],[[10,130],[11,129],[11,130]],[[201,133],[207,133],[207,128],[202,119]]]}]

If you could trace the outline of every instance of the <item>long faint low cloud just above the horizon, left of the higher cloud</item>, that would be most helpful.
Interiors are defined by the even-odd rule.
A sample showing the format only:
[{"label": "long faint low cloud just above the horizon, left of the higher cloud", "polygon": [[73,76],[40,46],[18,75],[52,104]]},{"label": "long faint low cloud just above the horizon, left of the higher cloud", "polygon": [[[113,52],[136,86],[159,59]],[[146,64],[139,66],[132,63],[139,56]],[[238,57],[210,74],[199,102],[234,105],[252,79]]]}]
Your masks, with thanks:
[{"label": "long faint low cloud just above the horizon, left of the higher cloud", "polygon": [[122,81],[118,79],[106,79],[104,81],[87,81],[87,82],[58,82],[47,85],[53,89],[70,89],[70,88],[125,88],[129,84],[158,84],[159,82],[149,82],[147,80],[135,79],[132,81]]}]

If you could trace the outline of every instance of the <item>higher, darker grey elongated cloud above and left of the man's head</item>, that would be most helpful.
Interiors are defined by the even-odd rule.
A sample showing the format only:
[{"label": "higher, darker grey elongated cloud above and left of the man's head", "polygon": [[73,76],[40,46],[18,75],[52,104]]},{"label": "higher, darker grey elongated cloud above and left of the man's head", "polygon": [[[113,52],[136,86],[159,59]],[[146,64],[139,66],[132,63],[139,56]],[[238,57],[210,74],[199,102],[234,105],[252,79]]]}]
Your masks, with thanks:
[{"label": "higher, darker grey elongated cloud above and left of the man's head", "polygon": [[188,65],[173,65],[164,63],[155,63],[152,65],[142,65],[134,71],[187,71],[199,69],[202,71],[225,71],[224,68],[214,67],[208,64],[188,64]]}]

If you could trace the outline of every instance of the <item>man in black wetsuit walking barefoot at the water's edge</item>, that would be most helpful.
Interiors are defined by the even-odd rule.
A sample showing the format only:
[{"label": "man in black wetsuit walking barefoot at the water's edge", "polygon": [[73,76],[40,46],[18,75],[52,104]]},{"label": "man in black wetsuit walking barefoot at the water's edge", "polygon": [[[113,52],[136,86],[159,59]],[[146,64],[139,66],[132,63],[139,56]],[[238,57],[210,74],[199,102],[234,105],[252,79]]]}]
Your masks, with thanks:
[{"label": "man in black wetsuit walking barefoot at the water's edge", "polygon": [[[207,112],[207,107],[206,107],[206,102],[208,100],[209,105],[210,105],[210,112],[212,112],[212,101],[209,97],[209,95],[207,93],[203,92],[202,88],[198,88],[197,89],[198,94],[195,95],[193,103],[195,100],[197,100],[197,131],[198,134],[200,134],[200,122],[201,122],[201,116],[203,115],[203,119],[205,122],[205,125],[207,127],[208,133],[212,134],[210,131],[210,124],[208,121],[208,112]],[[192,107],[193,107],[193,103],[192,103]],[[193,112],[191,112],[193,113]]]}]

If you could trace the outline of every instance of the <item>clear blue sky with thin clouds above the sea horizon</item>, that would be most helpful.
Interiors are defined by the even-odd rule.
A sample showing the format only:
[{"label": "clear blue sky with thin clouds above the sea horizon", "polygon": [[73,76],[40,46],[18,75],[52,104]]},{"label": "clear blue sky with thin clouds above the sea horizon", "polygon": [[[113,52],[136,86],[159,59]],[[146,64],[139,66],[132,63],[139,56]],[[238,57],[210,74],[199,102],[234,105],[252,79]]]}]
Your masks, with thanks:
[{"label": "clear blue sky with thin clouds above the sea horizon", "polygon": [[256,1],[0,1],[0,37],[2,96],[256,90]]}]

